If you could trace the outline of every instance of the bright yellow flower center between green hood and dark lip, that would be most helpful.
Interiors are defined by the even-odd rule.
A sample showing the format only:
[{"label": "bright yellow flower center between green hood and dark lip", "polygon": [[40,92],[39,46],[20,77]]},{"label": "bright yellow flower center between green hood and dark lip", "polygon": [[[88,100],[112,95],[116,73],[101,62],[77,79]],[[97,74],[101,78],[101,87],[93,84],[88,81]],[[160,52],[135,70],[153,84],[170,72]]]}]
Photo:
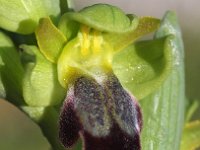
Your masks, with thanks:
[{"label": "bright yellow flower center between green hood and dark lip", "polygon": [[65,87],[82,75],[102,77],[111,72],[113,52],[102,32],[82,25],[78,36],[65,46],[58,60],[60,83]]}]

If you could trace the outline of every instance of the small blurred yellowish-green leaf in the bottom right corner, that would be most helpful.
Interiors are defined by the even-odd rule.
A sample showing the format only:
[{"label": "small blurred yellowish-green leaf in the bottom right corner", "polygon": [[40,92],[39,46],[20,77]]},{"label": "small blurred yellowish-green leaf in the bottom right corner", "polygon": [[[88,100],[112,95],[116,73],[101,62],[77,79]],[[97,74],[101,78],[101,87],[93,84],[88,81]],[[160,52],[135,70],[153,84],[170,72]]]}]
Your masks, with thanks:
[{"label": "small blurred yellowish-green leaf in the bottom right corner", "polygon": [[195,150],[200,147],[200,121],[187,123],[181,141],[181,150]]}]

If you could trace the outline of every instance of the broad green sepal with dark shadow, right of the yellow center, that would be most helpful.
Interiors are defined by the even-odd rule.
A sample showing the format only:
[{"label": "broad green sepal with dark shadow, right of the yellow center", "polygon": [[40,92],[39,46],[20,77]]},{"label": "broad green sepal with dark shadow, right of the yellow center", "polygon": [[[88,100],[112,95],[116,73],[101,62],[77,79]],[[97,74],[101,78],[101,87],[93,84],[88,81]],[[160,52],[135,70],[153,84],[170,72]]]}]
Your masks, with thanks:
[{"label": "broad green sepal with dark shadow, right of the yellow center", "polygon": [[114,73],[137,99],[154,92],[169,76],[172,70],[172,38],[138,42],[114,56]]}]

